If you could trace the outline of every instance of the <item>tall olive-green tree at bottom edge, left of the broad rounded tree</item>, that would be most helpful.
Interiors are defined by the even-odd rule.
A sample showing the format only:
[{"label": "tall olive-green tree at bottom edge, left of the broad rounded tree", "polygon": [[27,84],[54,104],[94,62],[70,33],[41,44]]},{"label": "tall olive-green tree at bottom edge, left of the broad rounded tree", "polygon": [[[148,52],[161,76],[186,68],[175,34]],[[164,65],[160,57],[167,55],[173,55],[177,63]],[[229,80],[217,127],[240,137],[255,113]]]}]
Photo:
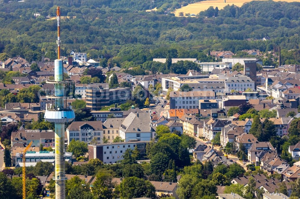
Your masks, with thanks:
[{"label": "tall olive-green tree at bottom edge, left of the broad rounded tree", "polygon": [[99,199],[113,198],[113,189],[116,186],[113,177],[113,171],[100,170],[92,186],[92,194]]}]

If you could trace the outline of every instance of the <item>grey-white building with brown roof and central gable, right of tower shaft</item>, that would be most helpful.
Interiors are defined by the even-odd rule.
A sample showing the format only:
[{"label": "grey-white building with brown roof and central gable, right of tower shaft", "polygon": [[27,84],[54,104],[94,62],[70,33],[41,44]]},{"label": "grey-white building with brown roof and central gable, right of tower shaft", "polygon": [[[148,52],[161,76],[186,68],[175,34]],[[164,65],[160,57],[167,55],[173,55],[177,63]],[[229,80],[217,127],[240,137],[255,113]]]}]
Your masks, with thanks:
[{"label": "grey-white building with brown roof and central gable, right of tower shaft", "polygon": [[96,138],[97,143],[102,143],[103,126],[101,121],[80,121],[72,122],[66,129],[67,142],[80,140],[85,143],[90,143]]}]

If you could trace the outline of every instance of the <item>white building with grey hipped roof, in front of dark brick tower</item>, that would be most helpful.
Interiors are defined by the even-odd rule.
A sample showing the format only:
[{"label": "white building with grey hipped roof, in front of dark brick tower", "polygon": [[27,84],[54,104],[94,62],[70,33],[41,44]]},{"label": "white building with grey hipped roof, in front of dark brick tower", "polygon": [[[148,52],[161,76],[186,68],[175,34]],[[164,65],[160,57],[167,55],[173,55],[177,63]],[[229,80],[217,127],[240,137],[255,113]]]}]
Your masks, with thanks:
[{"label": "white building with grey hipped roof, in front of dark brick tower", "polygon": [[226,93],[230,91],[245,91],[247,88],[255,90],[255,82],[248,76],[232,76],[225,81]]}]

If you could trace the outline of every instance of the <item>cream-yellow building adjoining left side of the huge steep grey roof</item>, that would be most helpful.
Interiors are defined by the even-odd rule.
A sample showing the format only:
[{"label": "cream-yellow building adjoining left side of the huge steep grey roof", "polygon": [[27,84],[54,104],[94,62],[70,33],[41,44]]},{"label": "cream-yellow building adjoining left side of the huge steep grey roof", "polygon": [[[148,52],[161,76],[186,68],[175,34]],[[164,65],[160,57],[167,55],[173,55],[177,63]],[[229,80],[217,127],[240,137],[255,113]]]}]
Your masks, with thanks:
[{"label": "cream-yellow building adjoining left side of the huge steep grey roof", "polygon": [[108,142],[113,142],[117,136],[119,136],[119,128],[124,118],[108,118],[103,125],[103,136],[108,139]]}]

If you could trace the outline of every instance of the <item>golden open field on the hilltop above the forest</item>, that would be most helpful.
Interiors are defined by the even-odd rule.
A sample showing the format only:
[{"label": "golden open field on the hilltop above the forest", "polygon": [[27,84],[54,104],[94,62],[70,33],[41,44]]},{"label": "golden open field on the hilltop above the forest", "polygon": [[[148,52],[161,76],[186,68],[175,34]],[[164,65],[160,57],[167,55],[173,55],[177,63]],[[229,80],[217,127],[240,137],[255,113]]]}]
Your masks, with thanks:
[{"label": "golden open field on the hilltop above the forest", "polygon": [[[195,14],[197,15],[199,12],[207,10],[210,6],[218,7],[219,10],[225,7],[226,5],[236,5],[238,7],[241,7],[244,3],[250,2],[251,0],[226,0],[226,3],[224,3],[224,0],[208,0],[208,1],[200,1],[197,3],[189,4],[187,6],[184,6],[182,8],[179,8],[174,11],[175,16],[179,16],[179,13],[183,12],[183,15],[185,13]],[[274,0],[274,1],[280,1],[280,0]],[[282,1],[282,0],[281,0]],[[284,0],[286,2],[299,2],[300,0]]]}]

